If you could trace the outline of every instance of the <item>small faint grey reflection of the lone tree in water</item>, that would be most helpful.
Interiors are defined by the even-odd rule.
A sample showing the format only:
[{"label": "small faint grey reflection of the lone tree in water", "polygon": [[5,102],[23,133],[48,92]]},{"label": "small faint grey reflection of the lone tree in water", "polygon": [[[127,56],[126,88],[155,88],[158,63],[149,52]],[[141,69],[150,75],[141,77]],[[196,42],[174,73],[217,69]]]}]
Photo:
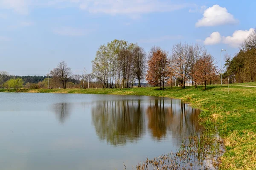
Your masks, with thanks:
[{"label": "small faint grey reflection of the lone tree in water", "polygon": [[67,117],[70,115],[70,108],[71,104],[68,103],[57,103],[53,106],[53,109],[61,123],[64,123]]}]

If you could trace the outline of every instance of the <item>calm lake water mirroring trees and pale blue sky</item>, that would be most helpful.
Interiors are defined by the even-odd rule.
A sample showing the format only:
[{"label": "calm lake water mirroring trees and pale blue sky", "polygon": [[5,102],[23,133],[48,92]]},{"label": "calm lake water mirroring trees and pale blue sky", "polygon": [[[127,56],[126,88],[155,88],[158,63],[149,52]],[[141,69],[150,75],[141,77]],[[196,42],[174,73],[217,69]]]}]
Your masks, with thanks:
[{"label": "calm lake water mirroring trees and pale blue sky", "polygon": [[176,151],[199,111],[150,96],[0,93],[0,170],[123,170]]}]

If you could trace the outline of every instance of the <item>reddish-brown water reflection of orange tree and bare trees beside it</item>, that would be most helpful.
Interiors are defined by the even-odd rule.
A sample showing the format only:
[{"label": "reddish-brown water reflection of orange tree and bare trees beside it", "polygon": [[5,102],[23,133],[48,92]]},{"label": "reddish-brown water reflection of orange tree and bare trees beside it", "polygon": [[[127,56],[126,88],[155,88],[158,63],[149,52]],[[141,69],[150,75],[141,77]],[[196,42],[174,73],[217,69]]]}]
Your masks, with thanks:
[{"label": "reddish-brown water reflection of orange tree and bare trees beside it", "polygon": [[202,128],[197,119],[200,111],[180,100],[171,99],[169,102],[168,99],[165,105],[164,98],[155,99],[146,109],[148,130],[153,138],[160,140],[167,133],[172,133],[172,136],[189,136]]}]

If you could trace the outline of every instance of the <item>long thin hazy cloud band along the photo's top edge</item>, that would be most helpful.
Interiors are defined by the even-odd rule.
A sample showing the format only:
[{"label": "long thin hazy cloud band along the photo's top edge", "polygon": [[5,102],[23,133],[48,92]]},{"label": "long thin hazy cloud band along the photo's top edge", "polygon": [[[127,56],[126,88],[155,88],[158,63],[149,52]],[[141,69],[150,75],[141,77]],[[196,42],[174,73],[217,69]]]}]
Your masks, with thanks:
[{"label": "long thin hazy cloud band along the photo's top edge", "polygon": [[30,7],[54,6],[57,8],[77,7],[92,14],[127,14],[132,17],[152,12],[169,12],[190,6],[189,4],[170,4],[155,0],[0,0],[2,8],[12,8],[27,14]]}]

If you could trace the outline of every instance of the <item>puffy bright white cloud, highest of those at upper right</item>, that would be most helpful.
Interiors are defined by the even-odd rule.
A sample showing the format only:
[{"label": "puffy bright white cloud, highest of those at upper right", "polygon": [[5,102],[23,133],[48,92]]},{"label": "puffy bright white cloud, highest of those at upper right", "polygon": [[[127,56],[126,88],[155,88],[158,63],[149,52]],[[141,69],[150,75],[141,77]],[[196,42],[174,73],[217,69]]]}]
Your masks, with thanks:
[{"label": "puffy bright white cloud, highest of those at upper right", "polygon": [[204,17],[198,20],[198,22],[195,23],[195,26],[220,26],[237,22],[238,21],[233,17],[233,15],[227,12],[226,8],[214,5],[204,11]]}]

